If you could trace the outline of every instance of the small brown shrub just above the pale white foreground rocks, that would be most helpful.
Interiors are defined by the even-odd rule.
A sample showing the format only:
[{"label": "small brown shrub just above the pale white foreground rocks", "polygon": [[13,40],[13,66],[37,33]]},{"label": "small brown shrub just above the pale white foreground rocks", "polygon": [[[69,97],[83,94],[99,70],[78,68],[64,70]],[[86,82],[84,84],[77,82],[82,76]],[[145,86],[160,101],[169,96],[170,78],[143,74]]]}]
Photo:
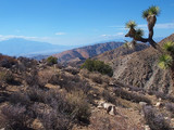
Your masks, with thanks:
[{"label": "small brown shrub just above the pale white foreground rocks", "polygon": [[107,102],[116,104],[116,98],[115,98],[115,96],[112,96],[112,95],[109,93],[109,91],[104,90],[104,91],[102,92],[102,96],[103,96],[103,99],[104,99]]}]

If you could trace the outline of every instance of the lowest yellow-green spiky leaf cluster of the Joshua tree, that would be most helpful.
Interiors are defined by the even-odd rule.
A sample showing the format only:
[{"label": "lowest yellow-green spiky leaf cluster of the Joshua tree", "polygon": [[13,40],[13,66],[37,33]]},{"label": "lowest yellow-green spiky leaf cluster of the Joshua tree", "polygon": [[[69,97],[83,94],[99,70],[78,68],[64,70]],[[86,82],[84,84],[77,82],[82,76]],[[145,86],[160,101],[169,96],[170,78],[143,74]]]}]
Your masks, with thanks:
[{"label": "lowest yellow-green spiky leaf cluster of the Joshua tree", "polygon": [[160,56],[158,65],[162,69],[167,69],[172,66],[172,63],[173,63],[172,56],[169,54],[163,54]]}]

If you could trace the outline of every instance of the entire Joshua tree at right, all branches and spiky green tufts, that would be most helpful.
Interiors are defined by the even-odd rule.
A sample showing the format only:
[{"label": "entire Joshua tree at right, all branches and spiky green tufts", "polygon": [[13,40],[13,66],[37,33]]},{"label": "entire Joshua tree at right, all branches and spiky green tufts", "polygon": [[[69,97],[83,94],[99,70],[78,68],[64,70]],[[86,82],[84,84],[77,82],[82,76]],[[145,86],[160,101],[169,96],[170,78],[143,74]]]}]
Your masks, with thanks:
[{"label": "entire Joshua tree at right, all branches and spiky green tufts", "polygon": [[161,48],[153,40],[153,27],[156,25],[157,16],[159,14],[160,9],[159,6],[154,5],[150,6],[149,9],[142,12],[142,17],[146,18],[148,22],[148,38],[142,38],[144,30],[137,29],[137,24],[134,21],[129,21],[128,23],[126,23],[126,28],[129,28],[129,31],[125,35],[125,37],[133,38],[133,41],[127,42],[125,46],[130,46],[132,48],[134,48],[136,46],[136,41],[149,42],[154,49],[157,49],[161,53],[161,56],[159,58],[159,66],[163,69],[170,69],[174,87],[174,42],[167,41]]}]

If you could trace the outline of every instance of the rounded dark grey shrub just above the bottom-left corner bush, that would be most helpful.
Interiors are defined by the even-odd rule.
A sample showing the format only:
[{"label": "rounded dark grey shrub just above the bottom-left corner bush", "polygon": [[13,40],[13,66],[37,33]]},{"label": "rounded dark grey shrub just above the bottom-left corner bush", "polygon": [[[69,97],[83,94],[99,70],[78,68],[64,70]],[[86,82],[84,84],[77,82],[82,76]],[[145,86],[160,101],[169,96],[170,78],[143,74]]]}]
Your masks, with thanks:
[{"label": "rounded dark grey shrub just above the bottom-left corner bush", "polygon": [[26,93],[22,92],[14,92],[9,96],[9,102],[13,105],[21,104],[21,105],[29,105],[29,98]]}]

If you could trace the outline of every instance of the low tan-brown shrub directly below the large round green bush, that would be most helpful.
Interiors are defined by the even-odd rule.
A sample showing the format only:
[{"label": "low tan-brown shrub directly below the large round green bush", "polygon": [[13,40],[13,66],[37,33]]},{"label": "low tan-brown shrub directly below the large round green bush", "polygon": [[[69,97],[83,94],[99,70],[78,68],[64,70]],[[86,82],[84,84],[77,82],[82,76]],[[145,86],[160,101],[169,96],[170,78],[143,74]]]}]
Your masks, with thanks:
[{"label": "low tan-brown shrub directly below the large round green bush", "polygon": [[89,75],[89,78],[94,81],[94,82],[97,82],[97,83],[102,83],[103,80],[102,80],[102,76],[101,74],[99,73],[91,73]]}]

